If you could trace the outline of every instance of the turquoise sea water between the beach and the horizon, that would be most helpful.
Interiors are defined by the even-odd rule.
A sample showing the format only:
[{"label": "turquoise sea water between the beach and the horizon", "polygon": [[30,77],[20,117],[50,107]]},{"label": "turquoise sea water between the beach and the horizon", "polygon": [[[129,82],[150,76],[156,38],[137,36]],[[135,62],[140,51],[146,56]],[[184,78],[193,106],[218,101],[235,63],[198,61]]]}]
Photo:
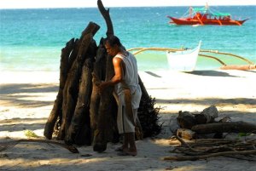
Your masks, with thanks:
[{"label": "turquoise sea water between the beach and the horizon", "polygon": [[[256,63],[256,6],[211,7],[232,18],[249,18],[242,26],[176,26],[166,15],[182,16],[188,7],[111,8],[114,33],[125,48],[194,48],[237,54]],[[59,71],[61,48],[79,38],[90,21],[101,26],[94,39],[106,37],[96,8],[0,9],[0,71]],[[245,64],[222,57],[227,64]],[[137,55],[140,71],[168,69],[165,52]],[[199,57],[196,69],[216,69],[215,60]]]}]

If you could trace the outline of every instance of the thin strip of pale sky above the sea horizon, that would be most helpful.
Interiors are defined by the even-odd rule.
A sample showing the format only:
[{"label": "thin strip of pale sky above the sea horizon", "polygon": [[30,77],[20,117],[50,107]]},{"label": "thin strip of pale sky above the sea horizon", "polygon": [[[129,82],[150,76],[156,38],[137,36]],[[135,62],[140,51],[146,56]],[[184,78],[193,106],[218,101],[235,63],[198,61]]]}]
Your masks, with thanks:
[{"label": "thin strip of pale sky above the sea horizon", "polygon": [[[102,0],[108,7],[256,5],[256,0]],[[0,9],[87,8],[97,0],[0,0]]]}]

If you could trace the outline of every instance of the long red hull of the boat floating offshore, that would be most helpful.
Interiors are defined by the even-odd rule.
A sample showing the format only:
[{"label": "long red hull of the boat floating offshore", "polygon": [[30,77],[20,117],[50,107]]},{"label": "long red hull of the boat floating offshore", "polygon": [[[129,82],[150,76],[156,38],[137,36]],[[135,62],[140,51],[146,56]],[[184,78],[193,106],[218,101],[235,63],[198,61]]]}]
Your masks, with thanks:
[{"label": "long red hull of the boat floating offshore", "polygon": [[246,20],[194,20],[194,19],[177,19],[169,17],[176,25],[218,25],[218,26],[241,26]]}]

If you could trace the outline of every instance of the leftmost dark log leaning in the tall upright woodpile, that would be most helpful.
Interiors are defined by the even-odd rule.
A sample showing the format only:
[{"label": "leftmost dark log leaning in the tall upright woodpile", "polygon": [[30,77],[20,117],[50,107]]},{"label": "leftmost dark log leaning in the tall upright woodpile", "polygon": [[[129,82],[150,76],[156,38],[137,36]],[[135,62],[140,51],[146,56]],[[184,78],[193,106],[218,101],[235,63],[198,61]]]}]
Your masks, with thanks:
[{"label": "leftmost dark log leaning in the tall upright woodpile", "polygon": [[61,112],[62,112],[63,88],[67,80],[68,58],[74,46],[75,46],[75,42],[74,42],[74,38],[72,38],[69,42],[67,42],[66,47],[61,49],[59,91],[58,91],[53,109],[50,112],[47,123],[45,124],[45,127],[44,127],[44,136],[49,140],[52,138],[56,120],[58,116],[61,115]]}]

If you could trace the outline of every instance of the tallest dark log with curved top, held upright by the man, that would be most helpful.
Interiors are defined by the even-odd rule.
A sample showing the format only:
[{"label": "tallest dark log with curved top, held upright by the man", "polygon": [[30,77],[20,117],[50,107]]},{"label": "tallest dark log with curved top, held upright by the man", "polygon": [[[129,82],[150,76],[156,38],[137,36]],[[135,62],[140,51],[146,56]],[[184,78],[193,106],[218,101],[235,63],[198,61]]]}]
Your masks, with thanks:
[{"label": "tallest dark log with curved top, held upright by the man", "polygon": [[[109,9],[106,10],[102,4],[102,1],[97,1],[98,9],[100,10],[104,20],[107,24],[107,37],[113,35],[113,24],[109,16]],[[102,41],[102,47],[104,46]],[[110,80],[113,75],[113,57],[107,56],[107,66],[106,66],[106,77],[105,81]],[[93,150],[94,151],[105,151],[107,149],[107,143],[109,140],[113,139],[113,134],[115,132],[114,128],[116,128],[116,113],[117,107],[116,102],[113,98],[113,87],[108,87],[101,94],[100,105],[98,113],[92,113],[90,115],[96,116],[97,124],[96,130],[94,132],[93,138]]]}]

